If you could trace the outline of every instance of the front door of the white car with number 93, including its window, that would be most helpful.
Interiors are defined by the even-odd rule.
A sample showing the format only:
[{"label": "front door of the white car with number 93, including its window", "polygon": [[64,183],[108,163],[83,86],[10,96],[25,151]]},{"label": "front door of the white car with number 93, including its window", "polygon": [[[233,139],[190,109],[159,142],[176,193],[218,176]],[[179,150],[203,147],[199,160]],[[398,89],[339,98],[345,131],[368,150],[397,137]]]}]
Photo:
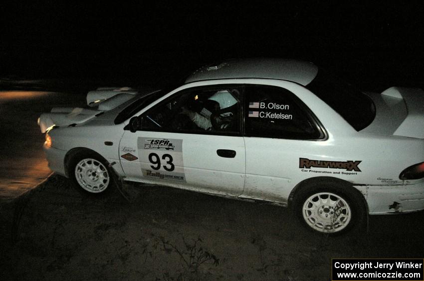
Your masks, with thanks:
[{"label": "front door of the white car with number 93, including its window", "polygon": [[240,195],[245,150],[239,93],[237,85],[191,88],[143,112],[141,130],[125,130],[120,142],[127,180]]}]

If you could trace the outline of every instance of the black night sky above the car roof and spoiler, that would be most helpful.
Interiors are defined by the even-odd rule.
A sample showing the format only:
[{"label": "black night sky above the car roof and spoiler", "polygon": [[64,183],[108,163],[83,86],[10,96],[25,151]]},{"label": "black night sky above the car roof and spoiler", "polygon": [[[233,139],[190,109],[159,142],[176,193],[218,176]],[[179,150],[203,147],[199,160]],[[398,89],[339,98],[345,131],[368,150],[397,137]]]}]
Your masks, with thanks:
[{"label": "black night sky above the car roof and spoiler", "polygon": [[225,58],[294,57],[365,87],[423,85],[422,1],[142,2],[1,4],[0,75],[137,83]]}]

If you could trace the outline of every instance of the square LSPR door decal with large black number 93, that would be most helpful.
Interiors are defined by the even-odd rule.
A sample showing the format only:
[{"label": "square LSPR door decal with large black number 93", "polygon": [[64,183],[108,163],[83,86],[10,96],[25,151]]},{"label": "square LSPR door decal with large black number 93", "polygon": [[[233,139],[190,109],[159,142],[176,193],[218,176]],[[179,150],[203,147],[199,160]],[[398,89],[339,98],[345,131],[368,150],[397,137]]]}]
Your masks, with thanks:
[{"label": "square LSPR door decal with large black number 93", "polygon": [[181,139],[137,139],[141,171],[146,178],[186,181]]}]

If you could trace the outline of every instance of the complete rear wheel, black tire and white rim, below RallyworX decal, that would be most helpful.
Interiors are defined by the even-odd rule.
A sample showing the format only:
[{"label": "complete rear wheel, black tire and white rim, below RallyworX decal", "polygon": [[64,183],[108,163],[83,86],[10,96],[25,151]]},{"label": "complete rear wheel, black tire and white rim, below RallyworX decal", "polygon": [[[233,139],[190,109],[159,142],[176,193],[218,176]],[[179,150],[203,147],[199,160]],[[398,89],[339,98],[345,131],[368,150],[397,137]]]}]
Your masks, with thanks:
[{"label": "complete rear wheel, black tire and white rim, below RallyworX decal", "polygon": [[328,235],[361,228],[368,215],[363,195],[350,184],[332,179],[302,186],[293,196],[292,210],[304,226]]}]

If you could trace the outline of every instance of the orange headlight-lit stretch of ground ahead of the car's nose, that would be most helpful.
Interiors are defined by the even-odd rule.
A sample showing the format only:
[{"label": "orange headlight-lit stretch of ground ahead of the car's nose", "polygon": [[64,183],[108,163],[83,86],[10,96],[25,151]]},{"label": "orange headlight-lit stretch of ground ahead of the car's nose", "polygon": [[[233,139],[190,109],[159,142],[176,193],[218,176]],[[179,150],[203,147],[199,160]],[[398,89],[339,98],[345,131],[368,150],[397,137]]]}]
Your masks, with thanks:
[{"label": "orange headlight-lit stretch of ground ahead of the car's nose", "polygon": [[84,96],[41,91],[0,91],[0,200],[10,200],[46,179],[37,118],[51,107],[84,105]]}]

